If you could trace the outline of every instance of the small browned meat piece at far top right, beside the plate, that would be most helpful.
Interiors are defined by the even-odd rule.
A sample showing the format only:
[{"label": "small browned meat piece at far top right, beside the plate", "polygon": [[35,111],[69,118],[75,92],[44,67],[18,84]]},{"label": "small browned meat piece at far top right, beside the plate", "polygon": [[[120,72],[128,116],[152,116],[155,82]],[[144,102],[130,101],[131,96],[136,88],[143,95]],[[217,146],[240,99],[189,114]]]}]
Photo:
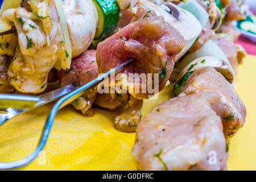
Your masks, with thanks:
[{"label": "small browned meat piece at far top right, beside the plate", "polygon": [[233,20],[245,19],[243,13],[241,12],[240,6],[236,0],[231,0],[229,5],[226,7],[225,21],[232,22]]}]

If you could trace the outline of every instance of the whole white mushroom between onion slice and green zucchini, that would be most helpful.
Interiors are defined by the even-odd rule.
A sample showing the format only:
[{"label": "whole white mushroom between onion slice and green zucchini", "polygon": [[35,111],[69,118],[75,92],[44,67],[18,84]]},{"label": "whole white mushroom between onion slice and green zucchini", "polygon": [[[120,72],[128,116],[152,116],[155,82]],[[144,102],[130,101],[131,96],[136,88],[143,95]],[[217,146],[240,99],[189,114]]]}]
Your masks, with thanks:
[{"label": "whole white mushroom between onion slice and green zucchini", "polygon": [[64,0],[63,7],[71,39],[72,57],[85,52],[98,26],[98,12],[92,0]]}]

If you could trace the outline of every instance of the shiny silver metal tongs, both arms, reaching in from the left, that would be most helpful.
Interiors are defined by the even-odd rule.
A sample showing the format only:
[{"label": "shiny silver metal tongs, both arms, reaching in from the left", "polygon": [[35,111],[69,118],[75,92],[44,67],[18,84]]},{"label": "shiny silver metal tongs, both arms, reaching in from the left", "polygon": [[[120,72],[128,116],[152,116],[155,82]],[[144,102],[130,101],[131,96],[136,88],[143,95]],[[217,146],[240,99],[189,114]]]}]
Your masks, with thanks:
[{"label": "shiny silver metal tongs, both arms, reaching in from the left", "polygon": [[[39,96],[38,98],[32,99],[32,97],[31,98],[27,97],[26,99],[32,99],[32,102],[34,102],[34,104],[37,101],[35,106],[30,109],[23,109],[23,110],[13,109],[13,108],[6,109],[7,113],[0,114],[0,118],[3,118],[3,121],[0,122],[0,126],[2,126],[7,121],[10,121],[11,118],[16,117],[18,114],[21,114],[28,110],[34,109],[35,107],[47,104],[48,102],[56,100],[57,98],[60,98],[65,95],[64,97],[60,98],[60,100],[57,101],[56,104],[52,107],[51,113],[48,115],[48,117],[46,119],[43,133],[41,135],[41,138],[39,140],[39,143],[38,143],[38,146],[36,147],[36,149],[30,155],[28,155],[26,158],[19,159],[14,162],[0,162],[0,169],[11,169],[11,168],[22,167],[22,166],[25,166],[25,165],[29,164],[30,162],[32,162],[32,160],[34,160],[39,155],[40,151],[43,150],[43,148],[47,142],[47,138],[49,136],[49,132],[51,131],[52,123],[55,119],[57,111],[60,110],[61,108],[63,108],[64,106],[68,105],[72,101],[76,100],[76,98],[85,94],[85,92],[88,91],[89,89],[92,89],[95,86],[97,86],[98,84],[100,84],[100,82],[102,82],[105,78],[108,78],[112,73],[116,74],[116,73],[122,71],[122,69],[124,69],[129,63],[131,63],[131,61],[133,61],[133,60],[129,60],[126,63],[118,65],[117,67],[102,74],[101,76],[95,78],[94,80],[88,82],[87,84],[81,86],[80,88],[76,88],[75,85],[71,84],[71,85],[65,86],[64,88],[60,88],[57,90],[53,90],[52,92],[43,94],[42,96]],[[15,99],[17,99],[17,98],[18,97],[16,97]],[[0,99],[1,99],[1,97],[0,97]],[[7,98],[5,97],[5,99],[7,99]],[[15,101],[17,101],[17,100],[15,100]],[[22,101],[24,102],[24,100],[22,100]],[[33,105],[33,104],[30,103],[30,105]]]}]

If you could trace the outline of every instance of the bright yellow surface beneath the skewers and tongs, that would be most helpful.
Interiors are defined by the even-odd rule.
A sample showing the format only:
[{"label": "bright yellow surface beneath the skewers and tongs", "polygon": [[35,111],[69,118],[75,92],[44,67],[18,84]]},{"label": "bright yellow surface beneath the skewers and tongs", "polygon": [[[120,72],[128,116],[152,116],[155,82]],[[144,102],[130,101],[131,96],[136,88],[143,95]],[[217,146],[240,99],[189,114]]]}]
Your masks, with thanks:
[{"label": "bright yellow surface beneath the skewers and tongs", "polygon": [[[256,57],[247,56],[239,68],[237,92],[247,107],[246,123],[229,147],[229,170],[256,170]],[[145,101],[143,116],[168,100],[171,85],[158,100]],[[51,106],[30,111],[0,127],[0,161],[28,155],[36,146]],[[116,131],[113,120],[118,111],[96,109],[85,117],[72,106],[64,107],[55,119],[43,153],[23,170],[134,170],[131,147],[135,134]]]}]

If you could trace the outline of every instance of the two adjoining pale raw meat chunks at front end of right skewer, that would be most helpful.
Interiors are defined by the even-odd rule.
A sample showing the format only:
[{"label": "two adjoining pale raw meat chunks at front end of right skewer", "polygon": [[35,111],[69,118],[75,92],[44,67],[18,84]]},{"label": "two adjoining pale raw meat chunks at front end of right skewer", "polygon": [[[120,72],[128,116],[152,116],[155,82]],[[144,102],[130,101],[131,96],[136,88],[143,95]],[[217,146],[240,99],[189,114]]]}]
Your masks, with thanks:
[{"label": "two adjoining pale raw meat chunks at front end of right skewer", "polygon": [[[245,117],[241,98],[220,73],[195,69],[178,97],[156,106],[139,123],[136,164],[142,170],[226,169],[226,140]],[[210,152],[215,152],[215,163]]]}]

